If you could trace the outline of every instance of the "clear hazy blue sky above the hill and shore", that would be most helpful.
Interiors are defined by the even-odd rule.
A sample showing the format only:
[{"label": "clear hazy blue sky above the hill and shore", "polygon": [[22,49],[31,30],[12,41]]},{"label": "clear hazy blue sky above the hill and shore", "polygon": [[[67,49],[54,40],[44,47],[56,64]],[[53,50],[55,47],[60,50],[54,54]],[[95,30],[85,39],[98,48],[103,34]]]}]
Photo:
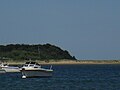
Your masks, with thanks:
[{"label": "clear hazy blue sky above the hill and shore", "polygon": [[120,0],[0,0],[0,44],[56,45],[78,60],[120,60]]}]

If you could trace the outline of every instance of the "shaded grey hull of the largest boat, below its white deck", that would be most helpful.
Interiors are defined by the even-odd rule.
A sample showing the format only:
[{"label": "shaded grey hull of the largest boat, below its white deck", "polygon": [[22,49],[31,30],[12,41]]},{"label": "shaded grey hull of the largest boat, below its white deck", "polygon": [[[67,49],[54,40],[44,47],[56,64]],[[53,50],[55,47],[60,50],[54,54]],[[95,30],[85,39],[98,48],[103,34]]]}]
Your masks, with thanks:
[{"label": "shaded grey hull of the largest boat, below its white deck", "polygon": [[52,71],[45,71],[45,70],[21,70],[23,77],[30,78],[30,77],[51,77]]}]

